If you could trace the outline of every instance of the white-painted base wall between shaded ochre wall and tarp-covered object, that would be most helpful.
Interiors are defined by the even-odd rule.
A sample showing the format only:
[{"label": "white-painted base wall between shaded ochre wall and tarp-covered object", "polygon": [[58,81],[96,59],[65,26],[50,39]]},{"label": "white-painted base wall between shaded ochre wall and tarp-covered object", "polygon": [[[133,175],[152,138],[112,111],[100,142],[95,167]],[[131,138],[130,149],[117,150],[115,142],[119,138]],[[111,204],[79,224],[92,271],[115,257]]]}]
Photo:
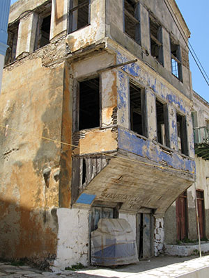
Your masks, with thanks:
[{"label": "white-painted base wall between shaded ochre wall and tarp-covered object", "polygon": [[88,215],[88,209],[57,209],[59,231],[53,271],[77,263],[88,265]]}]

